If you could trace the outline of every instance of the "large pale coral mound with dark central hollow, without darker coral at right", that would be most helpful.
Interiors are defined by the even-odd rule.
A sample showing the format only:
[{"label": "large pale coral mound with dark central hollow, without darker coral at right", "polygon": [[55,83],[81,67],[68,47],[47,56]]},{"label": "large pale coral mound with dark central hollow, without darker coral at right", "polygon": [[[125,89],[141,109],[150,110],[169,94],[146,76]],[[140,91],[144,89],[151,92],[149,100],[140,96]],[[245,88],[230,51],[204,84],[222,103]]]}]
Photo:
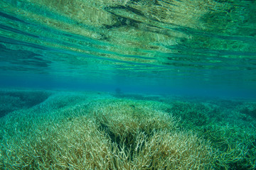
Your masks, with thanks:
[{"label": "large pale coral mound with dark central hollow, without darker coral at right", "polygon": [[211,169],[208,143],[179,130],[161,103],[87,97],[55,108],[61,97],[48,98],[1,120],[1,168]]}]

